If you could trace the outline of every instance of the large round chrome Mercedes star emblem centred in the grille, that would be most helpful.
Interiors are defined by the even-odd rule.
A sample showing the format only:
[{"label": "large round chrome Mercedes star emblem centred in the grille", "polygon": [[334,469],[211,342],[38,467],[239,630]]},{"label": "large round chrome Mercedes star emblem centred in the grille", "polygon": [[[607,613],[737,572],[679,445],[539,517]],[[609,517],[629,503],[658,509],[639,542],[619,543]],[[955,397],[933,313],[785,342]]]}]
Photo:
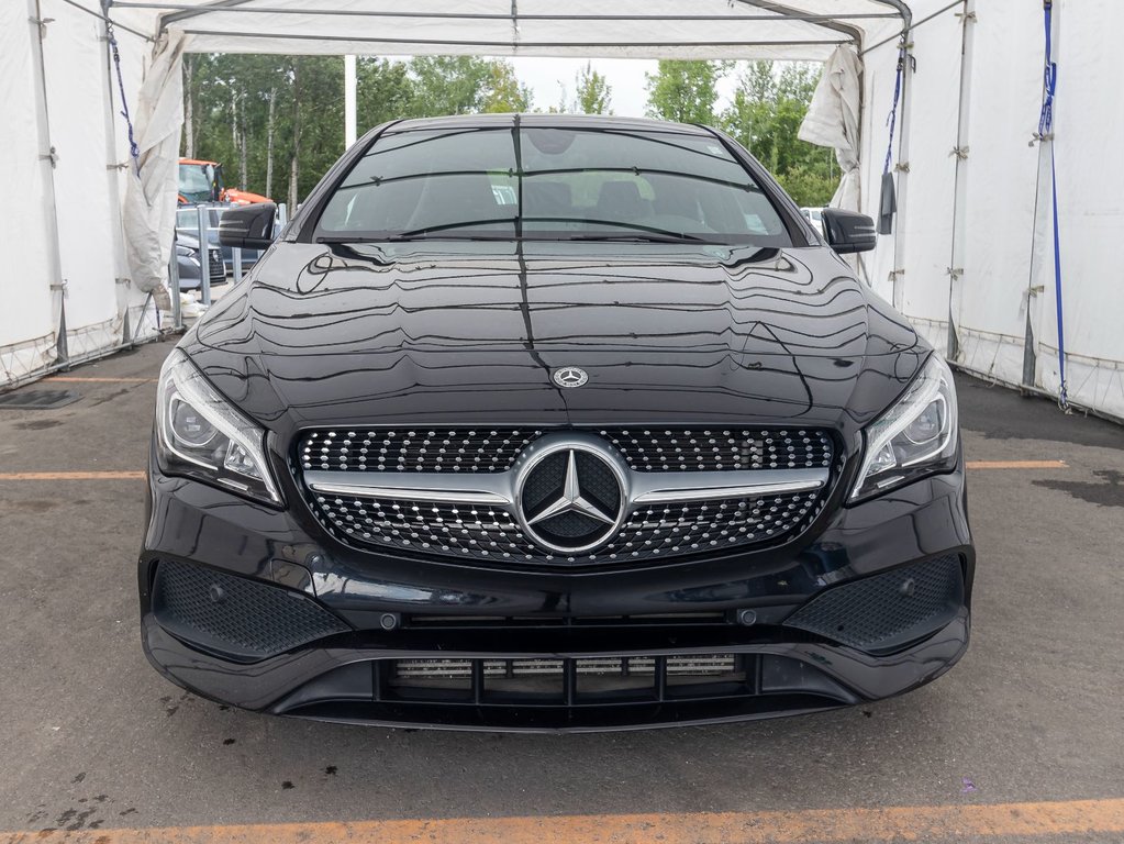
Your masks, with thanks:
[{"label": "large round chrome Mercedes star emblem centred in the grille", "polygon": [[517,499],[520,527],[543,548],[588,552],[624,521],[624,470],[596,444],[559,439],[523,465]]}]

